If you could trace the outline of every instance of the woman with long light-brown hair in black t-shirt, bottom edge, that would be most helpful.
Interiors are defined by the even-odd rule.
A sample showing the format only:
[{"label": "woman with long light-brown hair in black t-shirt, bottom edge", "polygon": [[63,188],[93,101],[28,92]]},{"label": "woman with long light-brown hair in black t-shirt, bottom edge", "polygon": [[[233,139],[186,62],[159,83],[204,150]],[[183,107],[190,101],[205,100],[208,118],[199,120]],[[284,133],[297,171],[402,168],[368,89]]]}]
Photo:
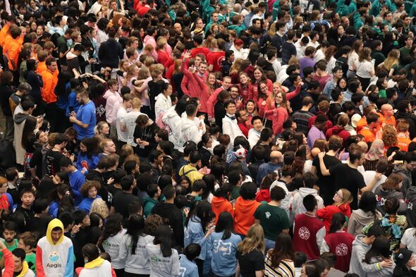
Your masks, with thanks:
[{"label": "woman with long light-brown hair in black t-shirt, bottom edge", "polygon": [[237,246],[237,270],[235,276],[264,276],[264,232],[259,224],[253,224],[247,236]]}]

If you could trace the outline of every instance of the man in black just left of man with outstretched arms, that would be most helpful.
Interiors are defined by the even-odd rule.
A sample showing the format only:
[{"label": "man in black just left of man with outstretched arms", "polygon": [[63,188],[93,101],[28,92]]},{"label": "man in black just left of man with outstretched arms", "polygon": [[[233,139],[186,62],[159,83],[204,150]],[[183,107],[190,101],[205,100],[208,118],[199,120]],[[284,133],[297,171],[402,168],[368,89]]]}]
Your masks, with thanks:
[{"label": "man in black just left of man with outstretched arms", "polygon": [[[328,149],[329,151],[325,153],[324,156],[324,164],[326,168],[331,168],[336,164],[341,163],[339,159],[336,158],[336,154],[338,154],[339,149],[342,147],[342,140],[341,137],[338,136],[331,136],[329,137]],[[335,187],[334,187],[334,176],[323,176],[321,172],[321,167],[319,166],[319,157],[315,156],[312,161],[312,168],[311,173],[317,174],[317,186],[319,187],[319,191],[321,192],[322,198],[324,199],[325,206],[334,203],[332,197],[335,195]]]}]

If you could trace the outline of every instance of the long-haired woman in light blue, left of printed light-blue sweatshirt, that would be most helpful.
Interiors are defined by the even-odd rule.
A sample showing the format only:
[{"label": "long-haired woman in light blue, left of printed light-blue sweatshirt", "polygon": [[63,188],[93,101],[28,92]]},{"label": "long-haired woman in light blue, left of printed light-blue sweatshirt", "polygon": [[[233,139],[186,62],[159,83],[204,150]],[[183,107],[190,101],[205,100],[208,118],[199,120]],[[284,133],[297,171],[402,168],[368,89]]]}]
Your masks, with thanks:
[{"label": "long-haired woman in light blue, left of printed light-blue sweatshirt", "polygon": [[198,266],[198,272],[202,276],[203,264],[207,259],[207,238],[214,230],[211,225],[215,215],[212,213],[211,204],[202,201],[190,212],[185,220],[185,240],[183,247],[191,243],[197,243],[201,246],[201,254],[195,259]]}]

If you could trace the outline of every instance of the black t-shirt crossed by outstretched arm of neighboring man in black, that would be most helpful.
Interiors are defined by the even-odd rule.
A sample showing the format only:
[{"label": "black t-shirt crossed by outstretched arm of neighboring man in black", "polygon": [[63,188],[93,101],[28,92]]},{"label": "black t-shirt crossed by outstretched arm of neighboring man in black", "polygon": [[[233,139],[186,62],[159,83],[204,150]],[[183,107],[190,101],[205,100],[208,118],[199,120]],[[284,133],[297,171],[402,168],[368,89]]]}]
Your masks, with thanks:
[{"label": "black t-shirt crossed by outstretched arm of neighboring man in black", "polygon": [[[324,164],[326,168],[331,168],[335,166],[336,164],[340,164],[341,161],[336,159],[335,156],[324,156]],[[324,199],[324,204],[331,205],[334,201],[332,200],[332,197],[334,197],[335,194],[335,187],[334,187],[334,176],[323,176],[321,173],[321,166],[319,166],[319,157],[315,156],[314,160],[312,161],[312,166],[315,166],[317,168],[317,186],[319,187],[319,194],[322,196],[322,199]]]}]

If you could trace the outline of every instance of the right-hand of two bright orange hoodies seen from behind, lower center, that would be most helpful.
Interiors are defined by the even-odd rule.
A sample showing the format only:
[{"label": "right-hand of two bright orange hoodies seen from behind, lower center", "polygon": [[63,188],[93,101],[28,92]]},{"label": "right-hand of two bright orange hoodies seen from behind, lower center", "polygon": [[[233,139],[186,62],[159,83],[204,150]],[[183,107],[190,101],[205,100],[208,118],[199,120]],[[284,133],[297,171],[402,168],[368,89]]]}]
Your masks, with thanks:
[{"label": "right-hand of two bright orange hoodies seen from behind, lower center", "polygon": [[245,200],[238,197],[234,204],[235,233],[247,235],[247,230],[255,223],[255,211],[260,203],[255,200]]}]

